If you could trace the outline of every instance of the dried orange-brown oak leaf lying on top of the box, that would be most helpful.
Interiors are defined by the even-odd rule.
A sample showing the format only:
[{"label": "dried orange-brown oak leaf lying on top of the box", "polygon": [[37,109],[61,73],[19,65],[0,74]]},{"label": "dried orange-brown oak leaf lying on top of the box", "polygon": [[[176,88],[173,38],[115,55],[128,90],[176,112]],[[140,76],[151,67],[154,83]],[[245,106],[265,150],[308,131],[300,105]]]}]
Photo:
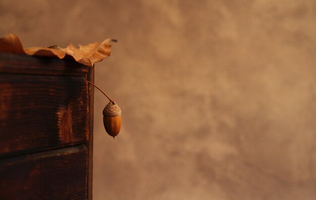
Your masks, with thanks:
[{"label": "dried orange-brown oak leaf lying on top of the box", "polygon": [[61,48],[55,45],[50,47],[31,47],[23,49],[22,42],[18,36],[9,34],[0,38],[0,52],[58,57],[60,59],[69,57],[79,63],[91,67],[94,63],[100,62],[111,55],[111,41],[113,40],[106,39],[102,42],[79,45],[79,49],[72,44],[69,44],[66,48]]}]

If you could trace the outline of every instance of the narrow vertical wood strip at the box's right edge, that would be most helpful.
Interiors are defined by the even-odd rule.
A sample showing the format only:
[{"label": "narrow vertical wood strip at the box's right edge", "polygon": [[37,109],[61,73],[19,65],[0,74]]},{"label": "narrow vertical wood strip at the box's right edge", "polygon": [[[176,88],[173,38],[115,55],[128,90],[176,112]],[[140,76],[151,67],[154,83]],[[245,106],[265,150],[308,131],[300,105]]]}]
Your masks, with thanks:
[{"label": "narrow vertical wood strip at the box's right edge", "polygon": [[[89,69],[88,80],[94,83],[94,65]],[[89,84],[89,141],[88,147],[88,192],[87,199],[92,200],[92,182],[93,182],[93,101],[94,87]]]}]

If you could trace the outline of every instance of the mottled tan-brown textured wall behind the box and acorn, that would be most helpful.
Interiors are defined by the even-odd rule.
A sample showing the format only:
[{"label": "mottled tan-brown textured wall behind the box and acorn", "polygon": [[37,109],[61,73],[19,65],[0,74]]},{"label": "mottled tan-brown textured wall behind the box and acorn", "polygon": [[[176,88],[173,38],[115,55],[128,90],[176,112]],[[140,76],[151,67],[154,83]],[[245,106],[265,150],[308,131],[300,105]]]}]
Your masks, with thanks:
[{"label": "mottled tan-brown textured wall behind the box and acorn", "polygon": [[94,199],[314,199],[315,1],[0,2],[25,47],[112,37],[95,82]]}]

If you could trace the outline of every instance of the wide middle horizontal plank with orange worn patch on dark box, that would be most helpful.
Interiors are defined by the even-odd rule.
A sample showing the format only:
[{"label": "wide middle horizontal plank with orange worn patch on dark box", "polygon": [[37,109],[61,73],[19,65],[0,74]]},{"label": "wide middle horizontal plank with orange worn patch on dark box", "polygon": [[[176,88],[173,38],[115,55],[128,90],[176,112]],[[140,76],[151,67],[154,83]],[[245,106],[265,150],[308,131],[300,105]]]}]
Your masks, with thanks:
[{"label": "wide middle horizontal plank with orange worn patch on dark box", "polygon": [[0,157],[88,140],[84,77],[0,74]]}]

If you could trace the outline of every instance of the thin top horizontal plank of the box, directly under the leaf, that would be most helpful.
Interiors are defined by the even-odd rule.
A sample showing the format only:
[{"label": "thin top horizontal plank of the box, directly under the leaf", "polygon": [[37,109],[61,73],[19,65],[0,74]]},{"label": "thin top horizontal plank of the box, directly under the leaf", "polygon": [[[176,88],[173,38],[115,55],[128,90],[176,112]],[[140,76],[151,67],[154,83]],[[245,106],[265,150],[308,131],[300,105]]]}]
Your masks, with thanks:
[{"label": "thin top horizontal plank of the box, directly under the leaf", "polygon": [[0,53],[0,73],[86,76],[88,66],[71,59]]}]

